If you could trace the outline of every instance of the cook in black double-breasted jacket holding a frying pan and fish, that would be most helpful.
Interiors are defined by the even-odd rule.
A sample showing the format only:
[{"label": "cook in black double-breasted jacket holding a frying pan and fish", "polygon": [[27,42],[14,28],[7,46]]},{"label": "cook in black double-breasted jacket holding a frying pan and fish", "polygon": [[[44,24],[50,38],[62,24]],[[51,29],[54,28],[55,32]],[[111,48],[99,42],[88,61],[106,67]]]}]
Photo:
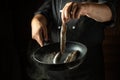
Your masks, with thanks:
[{"label": "cook in black double-breasted jacket holding a frying pan and fish", "polygon": [[113,0],[47,0],[31,20],[32,39],[41,47],[45,41],[59,42],[61,25],[67,23],[67,41],[83,43],[88,49],[79,67],[50,71],[48,80],[105,80],[104,29],[114,26],[115,20]]}]

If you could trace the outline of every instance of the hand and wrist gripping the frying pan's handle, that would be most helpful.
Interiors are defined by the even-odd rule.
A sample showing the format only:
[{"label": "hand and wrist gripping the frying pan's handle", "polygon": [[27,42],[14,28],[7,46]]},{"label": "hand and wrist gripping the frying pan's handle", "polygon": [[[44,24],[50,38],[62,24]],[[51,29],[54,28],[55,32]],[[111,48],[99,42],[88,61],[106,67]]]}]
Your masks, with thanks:
[{"label": "hand and wrist gripping the frying pan's handle", "polygon": [[36,14],[31,21],[32,39],[36,40],[42,47],[43,41],[48,40],[47,20],[42,14]]}]

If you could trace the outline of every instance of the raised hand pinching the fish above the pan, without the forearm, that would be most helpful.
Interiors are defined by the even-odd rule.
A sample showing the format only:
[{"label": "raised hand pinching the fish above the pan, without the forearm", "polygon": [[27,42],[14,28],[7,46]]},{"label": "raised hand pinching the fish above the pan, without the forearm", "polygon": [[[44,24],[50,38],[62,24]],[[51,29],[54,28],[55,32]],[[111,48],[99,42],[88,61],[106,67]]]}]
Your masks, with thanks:
[{"label": "raised hand pinching the fish above the pan, without the forearm", "polygon": [[62,9],[62,22],[68,22],[71,19],[79,19],[80,16],[85,15],[85,5],[80,2],[69,2]]}]

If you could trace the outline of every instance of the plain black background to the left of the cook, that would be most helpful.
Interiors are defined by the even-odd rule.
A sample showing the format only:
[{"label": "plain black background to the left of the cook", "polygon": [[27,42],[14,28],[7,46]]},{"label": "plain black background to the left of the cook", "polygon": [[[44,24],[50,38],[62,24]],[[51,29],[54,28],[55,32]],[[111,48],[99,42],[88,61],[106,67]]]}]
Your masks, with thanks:
[{"label": "plain black background to the left of the cook", "polygon": [[31,40],[31,19],[43,0],[0,2],[1,79],[28,80],[26,53]]}]

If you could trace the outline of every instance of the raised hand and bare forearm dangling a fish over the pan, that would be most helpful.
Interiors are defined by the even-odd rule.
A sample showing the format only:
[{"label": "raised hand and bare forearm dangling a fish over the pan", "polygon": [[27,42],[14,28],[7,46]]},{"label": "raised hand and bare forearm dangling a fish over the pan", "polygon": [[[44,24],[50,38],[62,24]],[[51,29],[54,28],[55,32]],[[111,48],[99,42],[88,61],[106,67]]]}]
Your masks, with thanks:
[{"label": "raised hand and bare forearm dangling a fish over the pan", "polygon": [[112,12],[106,4],[92,2],[69,2],[62,9],[62,22],[79,19],[80,16],[87,16],[98,22],[106,22],[111,20]]}]

